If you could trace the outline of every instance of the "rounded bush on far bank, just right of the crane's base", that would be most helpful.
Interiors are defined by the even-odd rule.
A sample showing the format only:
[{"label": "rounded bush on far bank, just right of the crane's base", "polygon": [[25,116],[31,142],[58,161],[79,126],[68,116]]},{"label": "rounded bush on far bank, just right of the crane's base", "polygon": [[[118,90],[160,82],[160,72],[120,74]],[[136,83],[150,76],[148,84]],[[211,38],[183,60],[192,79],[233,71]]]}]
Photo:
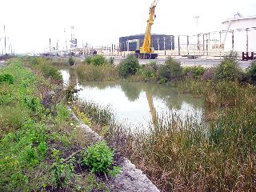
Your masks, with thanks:
[{"label": "rounded bush on far bank, just right of the crane's base", "polygon": [[162,78],[166,78],[167,80],[178,80],[182,78],[181,63],[174,61],[173,58],[167,58],[165,64],[159,66],[158,79]]}]

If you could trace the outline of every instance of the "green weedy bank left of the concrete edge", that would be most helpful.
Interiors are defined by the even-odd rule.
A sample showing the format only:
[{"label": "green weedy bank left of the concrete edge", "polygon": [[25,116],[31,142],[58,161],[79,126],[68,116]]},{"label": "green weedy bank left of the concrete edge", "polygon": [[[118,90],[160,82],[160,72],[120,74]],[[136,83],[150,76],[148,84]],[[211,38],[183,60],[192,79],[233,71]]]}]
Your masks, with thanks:
[{"label": "green weedy bank left of the concrete edge", "polygon": [[[61,74],[42,58],[0,69],[0,191],[110,190],[90,160],[98,146],[82,150],[94,141],[70,118],[65,94]],[[110,171],[113,152],[99,146]]]}]

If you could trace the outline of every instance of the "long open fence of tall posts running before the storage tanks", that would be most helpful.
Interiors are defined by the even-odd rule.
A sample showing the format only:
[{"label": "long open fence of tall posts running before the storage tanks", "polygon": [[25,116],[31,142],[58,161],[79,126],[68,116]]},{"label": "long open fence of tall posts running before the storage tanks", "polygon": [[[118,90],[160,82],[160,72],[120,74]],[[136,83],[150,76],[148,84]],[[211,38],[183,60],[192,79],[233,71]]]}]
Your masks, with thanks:
[{"label": "long open fence of tall posts running before the storage tanks", "polygon": [[[168,38],[152,38],[152,43],[159,41],[164,41],[165,44]],[[128,41],[126,43],[129,45]],[[107,46],[94,47],[94,49],[98,51],[98,54],[105,56],[125,57],[127,54],[134,53],[129,49],[121,51],[121,46],[123,45],[120,43],[113,43]],[[231,50],[237,51],[240,56],[242,56],[242,52],[254,51],[256,53],[256,27],[192,35],[174,35],[174,49],[158,46],[155,52],[158,53],[159,57],[186,55],[222,57]]]}]

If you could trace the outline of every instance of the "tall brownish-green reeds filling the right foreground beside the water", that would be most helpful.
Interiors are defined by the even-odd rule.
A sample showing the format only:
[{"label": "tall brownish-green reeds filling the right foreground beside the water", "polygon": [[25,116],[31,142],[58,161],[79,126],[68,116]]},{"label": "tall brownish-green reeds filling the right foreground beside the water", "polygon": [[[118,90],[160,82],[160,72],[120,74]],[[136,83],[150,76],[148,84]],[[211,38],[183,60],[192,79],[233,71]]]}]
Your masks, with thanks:
[{"label": "tall brownish-green reeds filling the right foreground beside the water", "polygon": [[216,95],[210,106],[223,106],[220,102],[232,107],[223,108],[208,123],[190,116],[184,122],[173,113],[169,118],[158,116],[158,124],[149,124],[149,131],[133,131],[116,122],[110,109],[87,102],[81,110],[110,145],[145,171],[161,191],[254,191],[255,88],[234,82],[222,82],[214,90],[211,86],[203,90]]}]

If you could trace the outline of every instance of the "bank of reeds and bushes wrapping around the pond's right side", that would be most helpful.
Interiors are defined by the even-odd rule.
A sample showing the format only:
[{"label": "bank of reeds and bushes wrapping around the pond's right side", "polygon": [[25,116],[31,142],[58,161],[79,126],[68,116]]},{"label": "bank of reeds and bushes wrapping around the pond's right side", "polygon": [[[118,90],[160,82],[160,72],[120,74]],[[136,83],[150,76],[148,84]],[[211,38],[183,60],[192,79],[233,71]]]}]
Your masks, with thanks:
[{"label": "bank of reeds and bushes wrapping around the pond's right side", "polygon": [[[172,114],[169,118],[158,118],[156,125],[145,129],[149,132],[134,132],[116,122],[113,111],[95,103],[83,102],[76,109],[86,114],[94,129],[144,170],[162,191],[254,191],[256,64],[246,71],[237,64],[232,54],[218,67],[207,70],[182,68],[170,59],[163,66],[151,63],[138,67],[126,77],[117,66],[117,79],[145,81],[147,77],[149,82],[174,83],[180,94],[202,97],[206,103],[206,123],[189,116],[184,122],[178,114]],[[134,66],[137,67],[136,63]],[[126,67],[122,70],[132,71]]]}]

